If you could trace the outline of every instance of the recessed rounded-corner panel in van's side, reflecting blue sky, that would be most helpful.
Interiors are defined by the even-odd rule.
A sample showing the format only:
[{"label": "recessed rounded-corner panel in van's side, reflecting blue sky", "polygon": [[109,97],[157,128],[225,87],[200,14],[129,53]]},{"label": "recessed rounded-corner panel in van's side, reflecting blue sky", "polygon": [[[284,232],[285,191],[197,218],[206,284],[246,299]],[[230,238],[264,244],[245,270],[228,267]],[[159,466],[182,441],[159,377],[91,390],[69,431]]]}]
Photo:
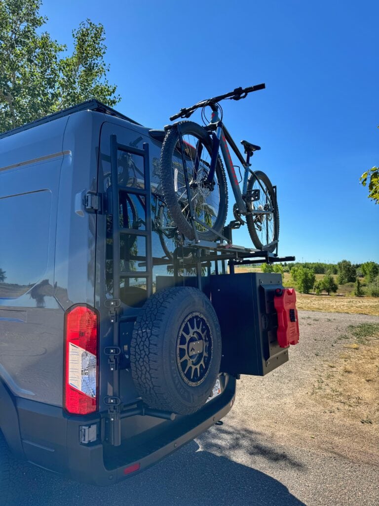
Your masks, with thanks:
[{"label": "recessed rounded-corner panel in van's side, reflecting blue sky", "polygon": [[50,214],[48,190],[0,198],[0,298],[20,297],[43,279]]}]

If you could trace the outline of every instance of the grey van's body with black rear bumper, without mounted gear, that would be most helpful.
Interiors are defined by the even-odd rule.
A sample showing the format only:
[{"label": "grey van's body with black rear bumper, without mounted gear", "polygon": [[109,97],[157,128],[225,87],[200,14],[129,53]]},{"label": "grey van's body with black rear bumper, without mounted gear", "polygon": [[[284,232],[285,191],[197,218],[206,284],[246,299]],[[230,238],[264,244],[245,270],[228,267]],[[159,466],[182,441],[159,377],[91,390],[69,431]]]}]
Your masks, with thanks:
[{"label": "grey van's body with black rear bumper, without mounted gear", "polygon": [[[105,354],[114,346],[114,324],[105,306],[113,297],[111,136],[123,146],[117,154],[118,184],[126,188],[120,191],[135,207],[136,226],[144,230],[146,205],[127,187],[143,187],[145,167],[138,155],[127,155],[127,147],[149,144],[154,221],[162,204],[161,142],[149,129],[109,111],[81,110],[0,139],[0,430],[18,456],[98,485],[125,478],[124,468],[135,461],[143,470],[191,441],[231,409],[235,396],[235,378],[220,374],[220,395],[193,415],[173,421],[145,412],[121,416],[121,445],[107,439],[111,415],[105,397],[113,395],[114,381]],[[99,196],[100,209],[86,208],[88,192]],[[123,268],[146,270],[144,240],[140,234],[137,260],[122,258]],[[153,267],[155,291],[159,278],[173,285],[173,272],[164,265],[167,256],[154,226],[151,240],[153,257],[166,259]],[[122,409],[129,411],[141,404],[128,347],[144,298],[126,297],[130,287],[146,291],[143,278],[137,278],[124,281],[120,296],[119,395]],[[64,318],[74,304],[100,314],[99,412],[85,416],[63,408]],[[97,437],[86,444],[82,432],[90,425]]]}]

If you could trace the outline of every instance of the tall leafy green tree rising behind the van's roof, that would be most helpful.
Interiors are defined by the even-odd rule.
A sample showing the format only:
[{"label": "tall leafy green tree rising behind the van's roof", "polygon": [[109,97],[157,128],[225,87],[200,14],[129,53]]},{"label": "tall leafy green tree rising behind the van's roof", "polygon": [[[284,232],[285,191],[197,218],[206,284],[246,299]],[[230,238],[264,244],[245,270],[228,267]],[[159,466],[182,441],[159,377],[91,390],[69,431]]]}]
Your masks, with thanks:
[{"label": "tall leafy green tree rising behind the van's roof", "polygon": [[0,2],[0,132],[90,98],[115,105],[105,31],[89,19],[72,30],[73,53],[40,28],[41,0]]}]

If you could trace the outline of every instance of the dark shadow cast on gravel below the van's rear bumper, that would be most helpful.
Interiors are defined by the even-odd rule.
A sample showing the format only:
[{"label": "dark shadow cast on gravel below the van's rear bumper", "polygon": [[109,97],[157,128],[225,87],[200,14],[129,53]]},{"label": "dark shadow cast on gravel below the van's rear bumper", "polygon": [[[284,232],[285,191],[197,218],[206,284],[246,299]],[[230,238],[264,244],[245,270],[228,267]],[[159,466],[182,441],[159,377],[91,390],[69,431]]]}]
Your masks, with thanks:
[{"label": "dark shadow cast on gravel below the van's rear bumper", "polygon": [[104,488],[25,466],[15,505],[305,506],[277,480],[230,459],[235,452],[250,459],[260,454],[280,465],[301,467],[258,439],[253,431],[215,427],[199,444],[192,441],[147,471]]}]

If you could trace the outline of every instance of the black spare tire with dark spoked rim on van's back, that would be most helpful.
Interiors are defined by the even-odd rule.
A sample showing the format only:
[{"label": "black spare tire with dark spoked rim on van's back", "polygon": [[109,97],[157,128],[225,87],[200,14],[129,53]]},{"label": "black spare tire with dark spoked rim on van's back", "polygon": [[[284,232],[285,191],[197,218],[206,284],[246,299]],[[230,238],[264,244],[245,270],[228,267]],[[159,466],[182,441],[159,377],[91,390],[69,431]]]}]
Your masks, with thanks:
[{"label": "black spare tire with dark spoked rim on van's back", "polygon": [[149,407],[178,414],[200,409],[221,362],[220,326],[204,293],[183,286],[151,296],[134,325],[130,362],[137,392]]}]

